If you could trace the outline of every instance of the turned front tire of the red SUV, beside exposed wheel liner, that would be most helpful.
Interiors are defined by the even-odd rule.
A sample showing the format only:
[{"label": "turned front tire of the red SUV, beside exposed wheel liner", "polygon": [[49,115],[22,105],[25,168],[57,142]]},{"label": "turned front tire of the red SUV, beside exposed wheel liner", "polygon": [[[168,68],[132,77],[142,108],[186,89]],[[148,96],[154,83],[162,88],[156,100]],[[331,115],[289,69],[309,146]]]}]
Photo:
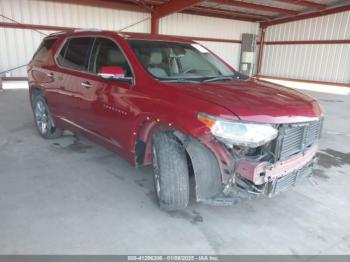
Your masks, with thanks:
[{"label": "turned front tire of the red SUV, beside exposed wheel liner", "polygon": [[153,178],[159,206],[180,210],[189,202],[189,171],[186,152],[169,132],[153,136]]}]

